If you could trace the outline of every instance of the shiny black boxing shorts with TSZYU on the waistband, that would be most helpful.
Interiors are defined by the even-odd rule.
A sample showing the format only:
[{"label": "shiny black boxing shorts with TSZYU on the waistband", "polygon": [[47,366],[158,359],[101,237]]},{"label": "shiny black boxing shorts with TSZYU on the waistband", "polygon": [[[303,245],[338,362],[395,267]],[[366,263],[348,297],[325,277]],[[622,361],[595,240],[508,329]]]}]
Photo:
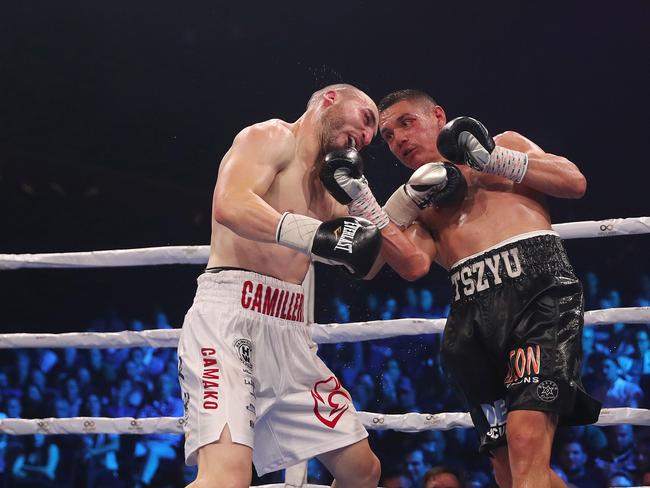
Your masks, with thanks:
[{"label": "shiny black boxing shorts with TSZYU on the waistband", "polygon": [[469,404],[481,452],[506,443],[513,410],[594,423],[600,403],[580,380],[582,285],[552,231],[513,237],[452,266],[442,355]]}]

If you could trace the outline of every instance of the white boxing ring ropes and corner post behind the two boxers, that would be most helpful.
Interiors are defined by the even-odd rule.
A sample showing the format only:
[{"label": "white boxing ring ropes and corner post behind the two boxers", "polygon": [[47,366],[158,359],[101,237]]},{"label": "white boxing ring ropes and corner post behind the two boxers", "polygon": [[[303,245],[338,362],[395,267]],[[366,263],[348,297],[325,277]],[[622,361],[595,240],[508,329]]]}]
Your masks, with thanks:
[{"label": "white boxing ring ropes and corner post behind the two boxers", "polygon": [[[556,224],[553,229],[562,239],[613,237],[649,234],[650,217],[609,219]],[[209,246],[169,246],[141,249],[91,251],[49,254],[0,254],[0,270],[24,268],[96,268],[118,266],[154,266],[163,264],[205,265]],[[305,288],[308,301],[308,321],[313,324],[313,339],[319,344],[354,342],[396,337],[400,335],[440,333],[445,319],[396,319],[346,324],[316,324],[313,320],[313,272],[308,274]],[[612,308],[585,312],[585,325],[650,323],[650,307]],[[176,347],[180,329],[123,331],[113,333],[83,332],[62,334],[0,334],[0,348],[131,348]],[[367,429],[392,429],[401,432],[449,430],[472,426],[469,413],[438,414],[405,413],[386,415],[359,412]],[[650,426],[650,410],[639,408],[605,408],[596,425],[633,424]],[[183,433],[183,419],[175,417],[107,418],[74,417],[44,419],[2,419],[0,433],[30,434],[153,434]],[[317,487],[306,484],[307,463],[287,469],[285,484],[267,487]]]}]

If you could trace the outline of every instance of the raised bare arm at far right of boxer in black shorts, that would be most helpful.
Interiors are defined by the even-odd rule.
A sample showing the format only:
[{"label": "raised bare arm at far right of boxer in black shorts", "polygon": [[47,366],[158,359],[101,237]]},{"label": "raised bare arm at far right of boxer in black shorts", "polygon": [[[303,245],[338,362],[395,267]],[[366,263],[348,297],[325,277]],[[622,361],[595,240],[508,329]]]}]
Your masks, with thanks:
[{"label": "raised bare arm at far right of boxer in black shorts", "polygon": [[504,132],[494,140],[499,146],[528,155],[528,169],[522,185],[557,198],[581,198],[584,195],[587,180],[567,158],[544,152],[517,132]]}]

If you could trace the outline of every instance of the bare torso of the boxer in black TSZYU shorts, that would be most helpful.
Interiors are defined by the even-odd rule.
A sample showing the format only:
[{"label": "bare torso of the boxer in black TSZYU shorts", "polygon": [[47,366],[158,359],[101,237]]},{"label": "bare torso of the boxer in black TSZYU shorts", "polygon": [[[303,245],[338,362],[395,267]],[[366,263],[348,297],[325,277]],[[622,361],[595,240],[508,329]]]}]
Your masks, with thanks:
[{"label": "bare torso of the boxer in black TSZYU shorts", "polygon": [[[506,146],[497,136],[495,142]],[[430,208],[419,218],[436,244],[435,260],[445,269],[494,244],[526,232],[551,229],[541,193],[499,176],[458,166],[467,196],[457,208]]]}]

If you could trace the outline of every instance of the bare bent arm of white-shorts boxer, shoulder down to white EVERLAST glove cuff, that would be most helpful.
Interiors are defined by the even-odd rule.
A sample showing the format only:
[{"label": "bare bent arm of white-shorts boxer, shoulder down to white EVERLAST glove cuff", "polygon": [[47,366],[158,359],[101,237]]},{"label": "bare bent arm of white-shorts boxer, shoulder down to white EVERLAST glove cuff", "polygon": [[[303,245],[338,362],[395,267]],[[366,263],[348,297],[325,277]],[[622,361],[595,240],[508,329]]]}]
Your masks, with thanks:
[{"label": "bare bent arm of white-shorts boxer, shoulder down to white EVERLAST glove cuff", "polygon": [[246,239],[275,242],[281,215],[262,196],[290,154],[291,138],[284,127],[255,125],[240,132],[219,167],[213,218]]}]

